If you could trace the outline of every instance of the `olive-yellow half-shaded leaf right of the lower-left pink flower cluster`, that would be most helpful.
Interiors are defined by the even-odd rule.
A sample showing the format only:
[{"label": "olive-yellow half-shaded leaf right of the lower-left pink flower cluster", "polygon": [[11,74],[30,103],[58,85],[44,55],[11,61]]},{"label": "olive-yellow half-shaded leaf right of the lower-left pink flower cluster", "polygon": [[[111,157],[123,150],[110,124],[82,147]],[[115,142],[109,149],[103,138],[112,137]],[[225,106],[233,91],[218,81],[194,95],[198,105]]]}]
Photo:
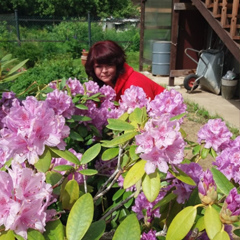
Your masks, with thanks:
[{"label": "olive-yellow half-shaded leaf right of the lower-left pink flower cluster", "polygon": [[75,179],[67,182],[64,191],[61,193],[63,209],[70,210],[79,198],[79,186]]}]

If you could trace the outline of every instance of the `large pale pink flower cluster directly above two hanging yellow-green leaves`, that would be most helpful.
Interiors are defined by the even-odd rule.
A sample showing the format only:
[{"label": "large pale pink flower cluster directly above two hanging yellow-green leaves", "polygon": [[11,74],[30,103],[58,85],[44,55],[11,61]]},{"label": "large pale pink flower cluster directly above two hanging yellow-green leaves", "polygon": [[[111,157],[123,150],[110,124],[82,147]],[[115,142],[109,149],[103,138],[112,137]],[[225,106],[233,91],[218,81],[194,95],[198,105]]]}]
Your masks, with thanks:
[{"label": "large pale pink flower cluster directly above two hanging yellow-green leaves", "polygon": [[148,120],[143,132],[135,139],[138,146],[136,153],[147,160],[147,174],[153,173],[156,168],[167,173],[168,164],[179,164],[183,160],[185,142],[179,132],[179,123],[170,121],[168,114]]}]

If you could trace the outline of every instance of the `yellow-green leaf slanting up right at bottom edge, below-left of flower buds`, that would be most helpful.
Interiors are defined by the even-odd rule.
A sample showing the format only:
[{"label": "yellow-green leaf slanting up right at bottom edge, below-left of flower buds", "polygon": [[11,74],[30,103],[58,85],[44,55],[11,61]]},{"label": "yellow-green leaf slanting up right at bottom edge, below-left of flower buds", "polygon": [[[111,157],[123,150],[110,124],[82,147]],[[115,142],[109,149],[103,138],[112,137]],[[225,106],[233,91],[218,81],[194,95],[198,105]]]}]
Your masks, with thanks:
[{"label": "yellow-green leaf slanting up right at bottom edge, below-left of flower buds", "polygon": [[182,240],[191,230],[197,215],[197,208],[189,206],[184,208],[171,222],[167,231],[166,240]]}]

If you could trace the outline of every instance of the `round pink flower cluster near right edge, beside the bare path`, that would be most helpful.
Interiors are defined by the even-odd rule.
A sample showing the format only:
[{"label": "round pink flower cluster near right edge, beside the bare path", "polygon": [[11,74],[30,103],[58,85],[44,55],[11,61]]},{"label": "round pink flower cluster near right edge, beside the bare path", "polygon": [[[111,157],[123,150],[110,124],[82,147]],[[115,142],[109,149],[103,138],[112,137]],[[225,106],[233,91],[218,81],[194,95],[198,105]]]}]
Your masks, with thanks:
[{"label": "round pink flower cluster near right edge, beside the bare path", "polygon": [[223,150],[230,142],[232,133],[221,119],[210,119],[198,132],[198,142],[205,143],[205,148],[216,152]]}]

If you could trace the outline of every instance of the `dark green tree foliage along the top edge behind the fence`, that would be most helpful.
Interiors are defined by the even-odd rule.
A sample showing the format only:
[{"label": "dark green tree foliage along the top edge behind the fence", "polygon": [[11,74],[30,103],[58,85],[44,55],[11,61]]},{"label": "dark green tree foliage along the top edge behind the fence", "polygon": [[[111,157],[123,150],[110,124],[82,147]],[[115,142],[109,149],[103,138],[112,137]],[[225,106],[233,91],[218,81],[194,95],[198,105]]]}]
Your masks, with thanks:
[{"label": "dark green tree foliage along the top edge behind the fence", "polygon": [[131,0],[3,0],[0,14],[18,9],[20,15],[28,16],[86,17],[89,11],[94,18],[119,18],[138,16],[137,7]]}]

